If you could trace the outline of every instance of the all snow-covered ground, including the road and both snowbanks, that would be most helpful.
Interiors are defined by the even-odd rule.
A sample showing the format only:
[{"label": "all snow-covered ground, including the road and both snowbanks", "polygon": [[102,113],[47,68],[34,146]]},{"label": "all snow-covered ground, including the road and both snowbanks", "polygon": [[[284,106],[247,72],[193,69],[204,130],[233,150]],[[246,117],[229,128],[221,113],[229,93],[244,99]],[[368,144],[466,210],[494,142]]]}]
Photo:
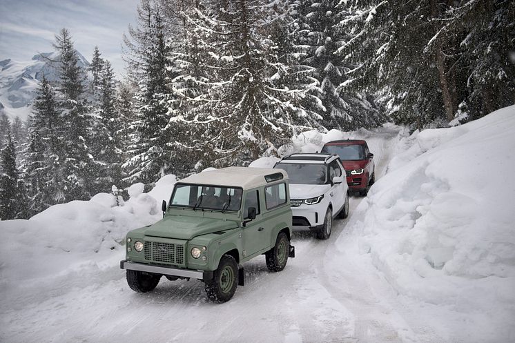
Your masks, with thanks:
[{"label": "all snow-covered ground, including the road and both snowbanks", "polygon": [[[245,286],[212,304],[202,282],[137,294],[124,237],[162,217],[167,175],[0,222],[0,342],[515,342],[515,106],[455,128],[295,137],[280,153],[367,139],[369,195],[327,241],[295,234],[280,273],[244,264]],[[263,157],[251,166],[271,167]]]}]

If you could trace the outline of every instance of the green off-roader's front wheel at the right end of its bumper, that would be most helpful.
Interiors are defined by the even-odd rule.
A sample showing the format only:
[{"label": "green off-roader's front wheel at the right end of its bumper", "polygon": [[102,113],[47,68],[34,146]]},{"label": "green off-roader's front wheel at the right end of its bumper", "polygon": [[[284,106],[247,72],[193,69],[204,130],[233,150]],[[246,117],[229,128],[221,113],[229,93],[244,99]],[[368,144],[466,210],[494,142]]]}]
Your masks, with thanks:
[{"label": "green off-roader's front wheel at the right end of its bumper", "polygon": [[238,266],[234,257],[224,255],[214,273],[213,280],[206,281],[206,294],[212,302],[228,302],[236,292]]}]

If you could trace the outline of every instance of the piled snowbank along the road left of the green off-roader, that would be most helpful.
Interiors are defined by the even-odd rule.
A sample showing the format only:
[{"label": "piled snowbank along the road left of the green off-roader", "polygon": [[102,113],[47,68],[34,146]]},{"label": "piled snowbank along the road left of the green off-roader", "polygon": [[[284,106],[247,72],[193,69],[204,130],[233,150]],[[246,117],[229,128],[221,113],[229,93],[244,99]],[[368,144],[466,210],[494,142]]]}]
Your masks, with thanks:
[{"label": "piled snowbank along the road left of the green off-roader", "polygon": [[[166,175],[150,193],[142,184],[129,188],[127,202],[99,193],[90,201],[51,206],[28,220],[0,222],[0,284],[9,294],[21,282],[66,277],[84,266],[123,257],[124,237],[133,228],[157,222],[161,201],[171,195],[174,175]],[[36,282],[36,281],[34,281]],[[30,284],[30,282],[29,282]]]}]

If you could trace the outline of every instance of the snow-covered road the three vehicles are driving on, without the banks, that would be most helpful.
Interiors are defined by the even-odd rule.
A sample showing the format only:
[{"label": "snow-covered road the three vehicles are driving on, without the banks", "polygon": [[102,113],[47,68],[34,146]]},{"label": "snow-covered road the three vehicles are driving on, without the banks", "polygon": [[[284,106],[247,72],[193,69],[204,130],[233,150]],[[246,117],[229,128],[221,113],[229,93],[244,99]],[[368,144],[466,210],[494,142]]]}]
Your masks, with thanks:
[{"label": "snow-covered road the three vehicles are driving on, without the banks", "polygon": [[[397,133],[365,137],[378,176]],[[335,220],[329,240],[295,233],[296,257],[284,271],[270,273],[264,257],[246,263],[246,285],[226,304],[209,302],[194,280],[163,278],[152,293],[130,291],[120,250],[57,283],[42,280],[42,291],[35,280],[21,284],[2,310],[1,342],[405,342],[411,329],[392,305],[396,295],[357,259],[349,226],[363,220],[362,199],[351,197],[351,215]]]}]

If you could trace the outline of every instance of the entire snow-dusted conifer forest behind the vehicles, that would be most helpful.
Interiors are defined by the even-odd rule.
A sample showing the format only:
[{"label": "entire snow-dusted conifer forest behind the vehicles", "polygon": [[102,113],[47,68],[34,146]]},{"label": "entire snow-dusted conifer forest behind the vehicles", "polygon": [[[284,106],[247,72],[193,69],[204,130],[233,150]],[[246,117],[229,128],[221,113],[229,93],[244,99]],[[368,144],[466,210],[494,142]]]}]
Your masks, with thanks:
[{"label": "entire snow-dusted conifer forest behind the vehicles", "polygon": [[[57,80],[0,109],[0,219],[246,166],[307,131],[457,126],[515,103],[515,1],[141,0],[118,77],[55,32]],[[83,52],[84,53],[84,52]]]}]

